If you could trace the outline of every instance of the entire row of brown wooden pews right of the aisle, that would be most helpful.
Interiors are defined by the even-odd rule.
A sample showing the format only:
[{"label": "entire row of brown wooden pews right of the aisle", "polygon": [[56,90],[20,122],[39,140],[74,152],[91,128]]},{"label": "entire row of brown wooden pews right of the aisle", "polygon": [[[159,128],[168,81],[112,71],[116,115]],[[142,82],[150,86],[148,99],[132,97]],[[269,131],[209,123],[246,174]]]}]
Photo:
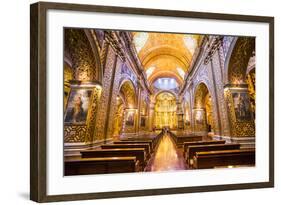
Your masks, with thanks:
[{"label": "entire row of brown wooden pews right of the aisle", "polygon": [[204,136],[176,136],[170,132],[189,169],[207,169],[232,166],[254,166],[255,149],[241,149],[240,144],[225,140],[203,140]]}]

